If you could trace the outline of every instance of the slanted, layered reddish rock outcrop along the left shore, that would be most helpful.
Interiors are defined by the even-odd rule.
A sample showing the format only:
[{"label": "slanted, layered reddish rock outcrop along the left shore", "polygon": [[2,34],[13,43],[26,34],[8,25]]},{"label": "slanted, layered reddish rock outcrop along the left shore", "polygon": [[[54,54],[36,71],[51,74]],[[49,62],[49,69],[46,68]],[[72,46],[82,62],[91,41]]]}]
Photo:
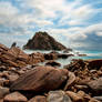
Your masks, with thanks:
[{"label": "slanted, layered reddish rock outcrop along the left shore", "polygon": [[42,53],[27,54],[19,48],[6,48],[0,44],[0,62],[6,67],[22,68],[27,64],[34,64],[44,61]]}]

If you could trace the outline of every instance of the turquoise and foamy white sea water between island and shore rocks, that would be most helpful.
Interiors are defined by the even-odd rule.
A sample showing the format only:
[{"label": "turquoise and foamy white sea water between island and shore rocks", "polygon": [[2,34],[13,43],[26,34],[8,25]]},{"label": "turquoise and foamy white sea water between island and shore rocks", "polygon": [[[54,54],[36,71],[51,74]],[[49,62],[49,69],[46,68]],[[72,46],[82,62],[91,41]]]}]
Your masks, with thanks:
[{"label": "turquoise and foamy white sea water between island and shore rocks", "polygon": [[[33,52],[50,53],[52,51],[24,50],[24,52],[30,54],[30,53],[33,53]],[[57,51],[57,52],[62,53],[62,51]],[[86,54],[86,57],[79,57],[79,55],[76,55],[78,52],[80,54]],[[70,53],[74,54],[74,57],[69,57],[68,59],[58,59],[58,60],[55,60],[57,62],[61,63],[61,68],[69,64],[72,61],[72,59],[82,59],[82,60],[102,59],[102,51],[76,51],[76,50],[74,50]],[[44,63],[40,63],[40,64],[44,65]]]}]

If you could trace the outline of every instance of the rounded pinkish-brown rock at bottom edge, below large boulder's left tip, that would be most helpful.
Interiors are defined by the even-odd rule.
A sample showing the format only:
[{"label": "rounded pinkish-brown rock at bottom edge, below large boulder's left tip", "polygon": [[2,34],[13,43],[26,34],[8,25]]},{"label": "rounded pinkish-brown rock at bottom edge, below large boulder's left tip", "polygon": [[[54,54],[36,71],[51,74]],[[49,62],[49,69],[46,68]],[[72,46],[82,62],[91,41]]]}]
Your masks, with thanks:
[{"label": "rounded pinkish-brown rock at bottom edge, below large boulder's left tip", "polygon": [[19,92],[13,92],[4,98],[4,102],[27,102],[28,99]]}]

